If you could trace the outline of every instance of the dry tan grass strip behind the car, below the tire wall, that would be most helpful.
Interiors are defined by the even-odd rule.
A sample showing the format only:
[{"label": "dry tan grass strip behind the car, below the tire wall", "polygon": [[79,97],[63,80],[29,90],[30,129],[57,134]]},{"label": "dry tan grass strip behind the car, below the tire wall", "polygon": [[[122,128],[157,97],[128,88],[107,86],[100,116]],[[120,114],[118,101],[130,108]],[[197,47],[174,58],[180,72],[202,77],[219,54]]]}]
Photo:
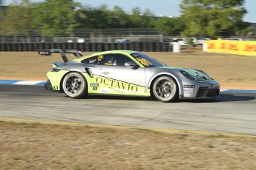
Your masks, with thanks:
[{"label": "dry tan grass strip behind the car, below the tire wall", "polygon": [[[91,55],[93,52],[83,52]],[[174,52],[145,52],[168,66],[202,69],[219,81],[221,89],[256,89],[256,56],[203,52],[198,49]],[[72,56],[69,57],[73,59]],[[37,52],[0,52],[0,79],[42,80],[59,54],[44,57]]]}]

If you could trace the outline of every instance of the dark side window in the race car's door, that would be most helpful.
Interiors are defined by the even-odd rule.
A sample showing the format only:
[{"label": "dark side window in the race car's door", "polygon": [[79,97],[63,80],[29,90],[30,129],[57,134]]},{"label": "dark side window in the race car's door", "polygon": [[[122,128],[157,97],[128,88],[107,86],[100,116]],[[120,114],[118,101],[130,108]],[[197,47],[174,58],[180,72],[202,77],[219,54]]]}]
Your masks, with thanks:
[{"label": "dark side window in the race car's door", "polygon": [[132,61],[126,55],[122,54],[106,54],[103,58],[103,64],[106,66],[122,66],[125,67],[125,63]]}]

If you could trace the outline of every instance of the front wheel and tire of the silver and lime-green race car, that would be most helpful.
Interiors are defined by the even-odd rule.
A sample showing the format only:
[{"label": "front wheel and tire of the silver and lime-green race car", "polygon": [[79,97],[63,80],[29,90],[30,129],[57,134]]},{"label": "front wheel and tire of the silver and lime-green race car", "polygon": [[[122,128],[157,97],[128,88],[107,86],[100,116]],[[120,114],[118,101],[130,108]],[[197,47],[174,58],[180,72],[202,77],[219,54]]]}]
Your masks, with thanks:
[{"label": "front wheel and tire of the silver and lime-green race car", "polygon": [[161,76],[154,81],[153,95],[158,101],[171,102],[176,101],[179,95],[179,89],[176,81],[169,76]]}]

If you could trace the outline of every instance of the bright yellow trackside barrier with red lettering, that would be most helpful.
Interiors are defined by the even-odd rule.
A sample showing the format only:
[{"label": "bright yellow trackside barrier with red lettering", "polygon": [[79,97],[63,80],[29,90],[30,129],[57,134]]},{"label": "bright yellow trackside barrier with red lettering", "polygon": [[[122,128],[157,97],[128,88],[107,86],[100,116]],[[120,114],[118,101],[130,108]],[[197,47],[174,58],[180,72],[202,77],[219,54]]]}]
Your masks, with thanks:
[{"label": "bright yellow trackside barrier with red lettering", "polygon": [[256,41],[211,40],[206,41],[206,47],[203,49],[207,52],[256,56]]}]

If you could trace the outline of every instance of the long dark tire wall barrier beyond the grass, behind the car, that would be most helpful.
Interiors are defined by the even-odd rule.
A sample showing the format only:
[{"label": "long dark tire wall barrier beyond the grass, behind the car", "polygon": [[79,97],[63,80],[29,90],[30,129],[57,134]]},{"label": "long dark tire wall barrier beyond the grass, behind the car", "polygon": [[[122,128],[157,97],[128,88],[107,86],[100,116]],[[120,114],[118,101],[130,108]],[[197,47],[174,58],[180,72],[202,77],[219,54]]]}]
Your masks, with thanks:
[{"label": "long dark tire wall barrier beyond the grass, behind the car", "polygon": [[172,51],[168,42],[128,42],[128,43],[0,43],[0,51],[36,51],[38,49],[73,49],[83,52],[107,50],[135,50],[147,52]]}]

